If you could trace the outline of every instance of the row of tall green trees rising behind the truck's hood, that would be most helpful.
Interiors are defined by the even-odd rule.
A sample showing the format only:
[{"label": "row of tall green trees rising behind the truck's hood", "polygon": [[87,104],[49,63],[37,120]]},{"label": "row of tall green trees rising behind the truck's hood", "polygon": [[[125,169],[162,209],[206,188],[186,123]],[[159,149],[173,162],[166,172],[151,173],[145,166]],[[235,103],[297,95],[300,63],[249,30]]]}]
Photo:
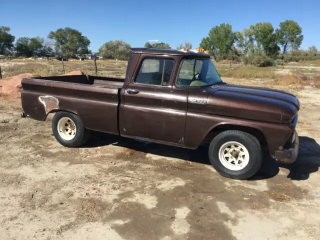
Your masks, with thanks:
[{"label": "row of tall green trees rising behind the truck's hood", "polygon": [[209,49],[216,60],[253,61],[260,57],[272,61],[284,59],[289,51],[297,51],[302,40],[302,29],[293,20],[280,22],[276,29],[270,22],[258,22],[243,31],[232,31],[230,24],[222,23],[209,30],[200,47]]}]

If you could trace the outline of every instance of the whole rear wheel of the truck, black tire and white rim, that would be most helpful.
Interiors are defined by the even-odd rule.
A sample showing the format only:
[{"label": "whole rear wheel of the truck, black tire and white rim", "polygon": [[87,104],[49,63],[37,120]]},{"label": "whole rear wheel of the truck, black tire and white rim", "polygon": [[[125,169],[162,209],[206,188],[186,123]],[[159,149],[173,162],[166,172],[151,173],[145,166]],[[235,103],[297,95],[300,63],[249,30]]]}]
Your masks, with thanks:
[{"label": "whole rear wheel of the truck, black tire and white rim", "polygon": [[63,146],[77,147],[86,142],[89,130],[75,114],[70,112],[56,112],[52,119],[52,132],[55,139]]}]

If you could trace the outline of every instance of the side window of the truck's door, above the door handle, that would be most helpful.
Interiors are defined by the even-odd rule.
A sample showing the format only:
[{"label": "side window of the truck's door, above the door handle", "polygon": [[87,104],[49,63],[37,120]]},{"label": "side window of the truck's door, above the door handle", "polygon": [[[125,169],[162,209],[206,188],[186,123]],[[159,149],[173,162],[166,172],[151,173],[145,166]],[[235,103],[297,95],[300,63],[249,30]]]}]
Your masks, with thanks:
[{"label": "side window of the truck's door, above the door handle", "polygon": [[135,78],[136,83],[163,85],[170,82],[174,61],[163,58],[145,58]]}]

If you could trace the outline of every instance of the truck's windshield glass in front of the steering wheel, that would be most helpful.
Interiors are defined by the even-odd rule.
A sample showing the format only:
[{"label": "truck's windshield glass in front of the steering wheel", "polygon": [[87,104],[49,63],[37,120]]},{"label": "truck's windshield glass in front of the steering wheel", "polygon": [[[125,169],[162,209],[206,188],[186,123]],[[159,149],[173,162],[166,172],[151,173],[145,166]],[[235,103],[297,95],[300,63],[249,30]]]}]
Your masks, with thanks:
[{"label": "truck's windshield glass in front of the steering wheel", "polygon": [[184,59],[176,86],[206,86],[221,82],[210,59]]}]

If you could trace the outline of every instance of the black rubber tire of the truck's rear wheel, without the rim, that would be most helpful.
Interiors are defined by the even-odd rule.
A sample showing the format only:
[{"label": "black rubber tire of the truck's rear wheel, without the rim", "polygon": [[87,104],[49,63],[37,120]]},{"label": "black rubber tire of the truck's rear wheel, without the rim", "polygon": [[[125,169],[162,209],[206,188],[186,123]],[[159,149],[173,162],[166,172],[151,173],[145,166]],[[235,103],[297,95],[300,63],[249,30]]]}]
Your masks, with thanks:
[{"label": "black rubber tire of the truck's rear wheel, without the rim", "polygon": [[[59,132],[58,132],[58,122],[62,117],[68,117],[70,118],[73,122],[74,125],[76,127],[76,132],[74,134],[74,137],[70,140],[66,140],[63,137],[60,136]],[[90,131],[88,129],[86,129],[83,126],[83,123],[80,119],[79,116],[72,114],[70,112],[65,112],[65,111],[58,111],[54,114],[53,118],[52,118],[52,132],[53,135],[55,137],[55,139],[63,146],[66,147],[78,147],[83,145],[88,137],[89,137],[89,133]]]}]

